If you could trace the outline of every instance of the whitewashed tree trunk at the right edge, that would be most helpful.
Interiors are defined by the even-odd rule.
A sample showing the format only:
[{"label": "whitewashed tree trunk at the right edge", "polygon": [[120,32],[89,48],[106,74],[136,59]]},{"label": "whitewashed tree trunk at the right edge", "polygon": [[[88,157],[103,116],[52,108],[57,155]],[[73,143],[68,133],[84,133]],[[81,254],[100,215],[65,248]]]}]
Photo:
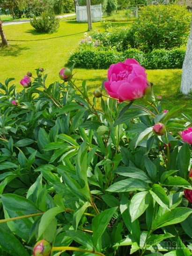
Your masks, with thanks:
[{"label": "whitewashed tree trunk at the right edge", "polygon": [[181,92],[186,95],[190,90],[192,90],[192,22],[181,78]]}]

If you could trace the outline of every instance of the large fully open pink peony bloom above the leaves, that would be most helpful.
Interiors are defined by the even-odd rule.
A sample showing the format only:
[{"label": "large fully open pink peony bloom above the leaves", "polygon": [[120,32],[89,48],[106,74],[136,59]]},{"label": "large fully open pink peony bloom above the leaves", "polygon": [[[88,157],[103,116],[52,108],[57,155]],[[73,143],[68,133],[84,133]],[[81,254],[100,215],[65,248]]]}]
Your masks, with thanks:
[{"label": "large fully open pink peony bloom above the leaves", "polygon": [[145,68],[134,59],[112,64],[107,77],[105,89],[112,98],[118,98],[119,102],[142,98],[148,87]]}]

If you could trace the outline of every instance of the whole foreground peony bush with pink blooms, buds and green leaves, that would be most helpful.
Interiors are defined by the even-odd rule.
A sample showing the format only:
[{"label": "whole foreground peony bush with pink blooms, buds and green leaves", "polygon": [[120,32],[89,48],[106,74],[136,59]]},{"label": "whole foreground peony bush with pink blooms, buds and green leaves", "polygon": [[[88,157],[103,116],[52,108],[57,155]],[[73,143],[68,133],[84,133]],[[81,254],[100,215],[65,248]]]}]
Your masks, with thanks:
[{"label": "whole foreground peony bush with pink blooms, buds and green leaves", "polygon": [[0,83],[0,254],[192,255],[185,105],[163,110],[133,59],[93,100],[73,68],[50,85],[27,72],[19,92]]}]

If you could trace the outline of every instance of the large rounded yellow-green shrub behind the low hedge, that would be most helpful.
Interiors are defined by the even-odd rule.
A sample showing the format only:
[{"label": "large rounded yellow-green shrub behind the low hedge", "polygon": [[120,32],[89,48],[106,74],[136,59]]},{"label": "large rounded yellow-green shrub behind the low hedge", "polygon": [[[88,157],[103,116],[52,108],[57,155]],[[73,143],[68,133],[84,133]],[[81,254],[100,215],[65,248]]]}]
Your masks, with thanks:
[{"label": "large rounded yellow-green shrub behind the low hedge", "polygon": [[171,49],[186,43],[191,14],[185,6],[148,5],[141,8],[139,18],[130,30],[130,45],[144,52]]}]

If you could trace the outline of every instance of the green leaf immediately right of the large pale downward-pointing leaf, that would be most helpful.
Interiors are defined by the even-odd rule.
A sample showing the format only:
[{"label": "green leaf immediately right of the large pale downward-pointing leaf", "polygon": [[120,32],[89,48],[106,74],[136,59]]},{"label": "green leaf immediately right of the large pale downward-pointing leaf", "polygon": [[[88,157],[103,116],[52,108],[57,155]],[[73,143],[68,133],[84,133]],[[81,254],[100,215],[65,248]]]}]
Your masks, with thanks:
[{"label": "green leaf immediately right of the large pale downward-pointing leaf", "polygon": [[157,203],[159,203],[162,207],[170,210],[170,200],[167,197],[165,190],[162,188],[162,186],[154,184],[152,190],[149,190],[149,192]]}]

